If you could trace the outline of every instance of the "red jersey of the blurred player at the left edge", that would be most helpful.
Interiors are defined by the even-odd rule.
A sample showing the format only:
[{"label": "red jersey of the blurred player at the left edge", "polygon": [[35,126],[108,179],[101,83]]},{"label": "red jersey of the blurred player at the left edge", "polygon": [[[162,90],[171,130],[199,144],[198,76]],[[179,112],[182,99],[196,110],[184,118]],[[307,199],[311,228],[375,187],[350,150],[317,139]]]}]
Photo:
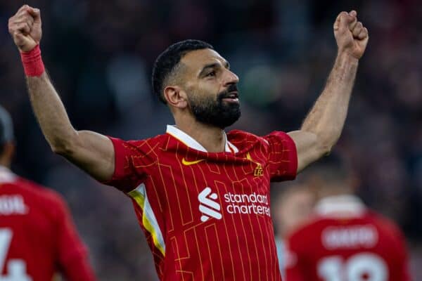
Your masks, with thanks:
[{"label": "red jersey of the blurred player at the left edge", "polygon": [[0,167],[0,280],[95,280],[58,193]]}]

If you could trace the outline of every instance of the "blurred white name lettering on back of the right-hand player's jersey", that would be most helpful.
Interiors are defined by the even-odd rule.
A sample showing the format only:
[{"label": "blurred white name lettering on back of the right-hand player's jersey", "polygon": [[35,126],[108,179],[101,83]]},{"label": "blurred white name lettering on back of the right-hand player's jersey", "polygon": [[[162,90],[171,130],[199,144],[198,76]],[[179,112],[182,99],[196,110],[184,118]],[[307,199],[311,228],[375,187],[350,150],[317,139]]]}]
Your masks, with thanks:
[{"label": "blurred white name lettering on back of the right-hand player's jersey", "polygon": [[330,227],[321,239],[326,249],[371,248],[378,242],[378,233],[373,226]]}]

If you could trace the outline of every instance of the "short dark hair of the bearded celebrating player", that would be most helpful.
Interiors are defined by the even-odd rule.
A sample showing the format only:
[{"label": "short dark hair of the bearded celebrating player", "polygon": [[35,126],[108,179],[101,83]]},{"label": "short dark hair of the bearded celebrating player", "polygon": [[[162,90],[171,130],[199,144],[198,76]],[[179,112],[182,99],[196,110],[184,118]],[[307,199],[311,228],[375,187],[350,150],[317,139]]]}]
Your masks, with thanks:
[{"label": "short dark hair of the bearded celebrating player", "polygon": [[164,52],[158,55],[153,66],[152,83],[153,92],[160,98],[162,103],[167,103],[163,94],[165,79],[172,74],[177,65],[179,65],[181,58],[183,58],[186,53],[203,48],[214,50],[214,47],[207,42],[188,39],[172,44]]}]

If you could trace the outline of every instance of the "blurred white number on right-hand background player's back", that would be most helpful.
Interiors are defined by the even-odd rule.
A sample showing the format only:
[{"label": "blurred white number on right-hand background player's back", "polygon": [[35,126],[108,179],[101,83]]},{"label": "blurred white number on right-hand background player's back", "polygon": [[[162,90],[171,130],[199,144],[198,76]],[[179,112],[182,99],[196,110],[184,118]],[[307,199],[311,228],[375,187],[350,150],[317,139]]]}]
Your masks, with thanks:
[{"label": "blurred white number on right-hand background player's back", "polygon": [[318,264],[318,275],[325,281],[388,281],[388,268],[376,254],[356,254],[346,261],[330,256]]}]

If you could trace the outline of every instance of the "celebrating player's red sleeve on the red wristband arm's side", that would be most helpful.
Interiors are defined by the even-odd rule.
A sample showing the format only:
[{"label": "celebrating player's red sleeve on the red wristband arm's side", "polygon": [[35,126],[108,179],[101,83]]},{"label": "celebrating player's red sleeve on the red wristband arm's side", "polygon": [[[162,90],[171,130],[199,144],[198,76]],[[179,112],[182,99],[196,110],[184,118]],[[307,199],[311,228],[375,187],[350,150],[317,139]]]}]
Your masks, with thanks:
[{"label": "celebrating player's red sleeve on the red wristband arm's side", "polygon": [[134,190],[146,175],[146,167],[156,162],[156,157],[146,141],[122,141],[109,137],[115,150],[115,171],[110,181],[103,182],[112,185],[123,192]]}]

